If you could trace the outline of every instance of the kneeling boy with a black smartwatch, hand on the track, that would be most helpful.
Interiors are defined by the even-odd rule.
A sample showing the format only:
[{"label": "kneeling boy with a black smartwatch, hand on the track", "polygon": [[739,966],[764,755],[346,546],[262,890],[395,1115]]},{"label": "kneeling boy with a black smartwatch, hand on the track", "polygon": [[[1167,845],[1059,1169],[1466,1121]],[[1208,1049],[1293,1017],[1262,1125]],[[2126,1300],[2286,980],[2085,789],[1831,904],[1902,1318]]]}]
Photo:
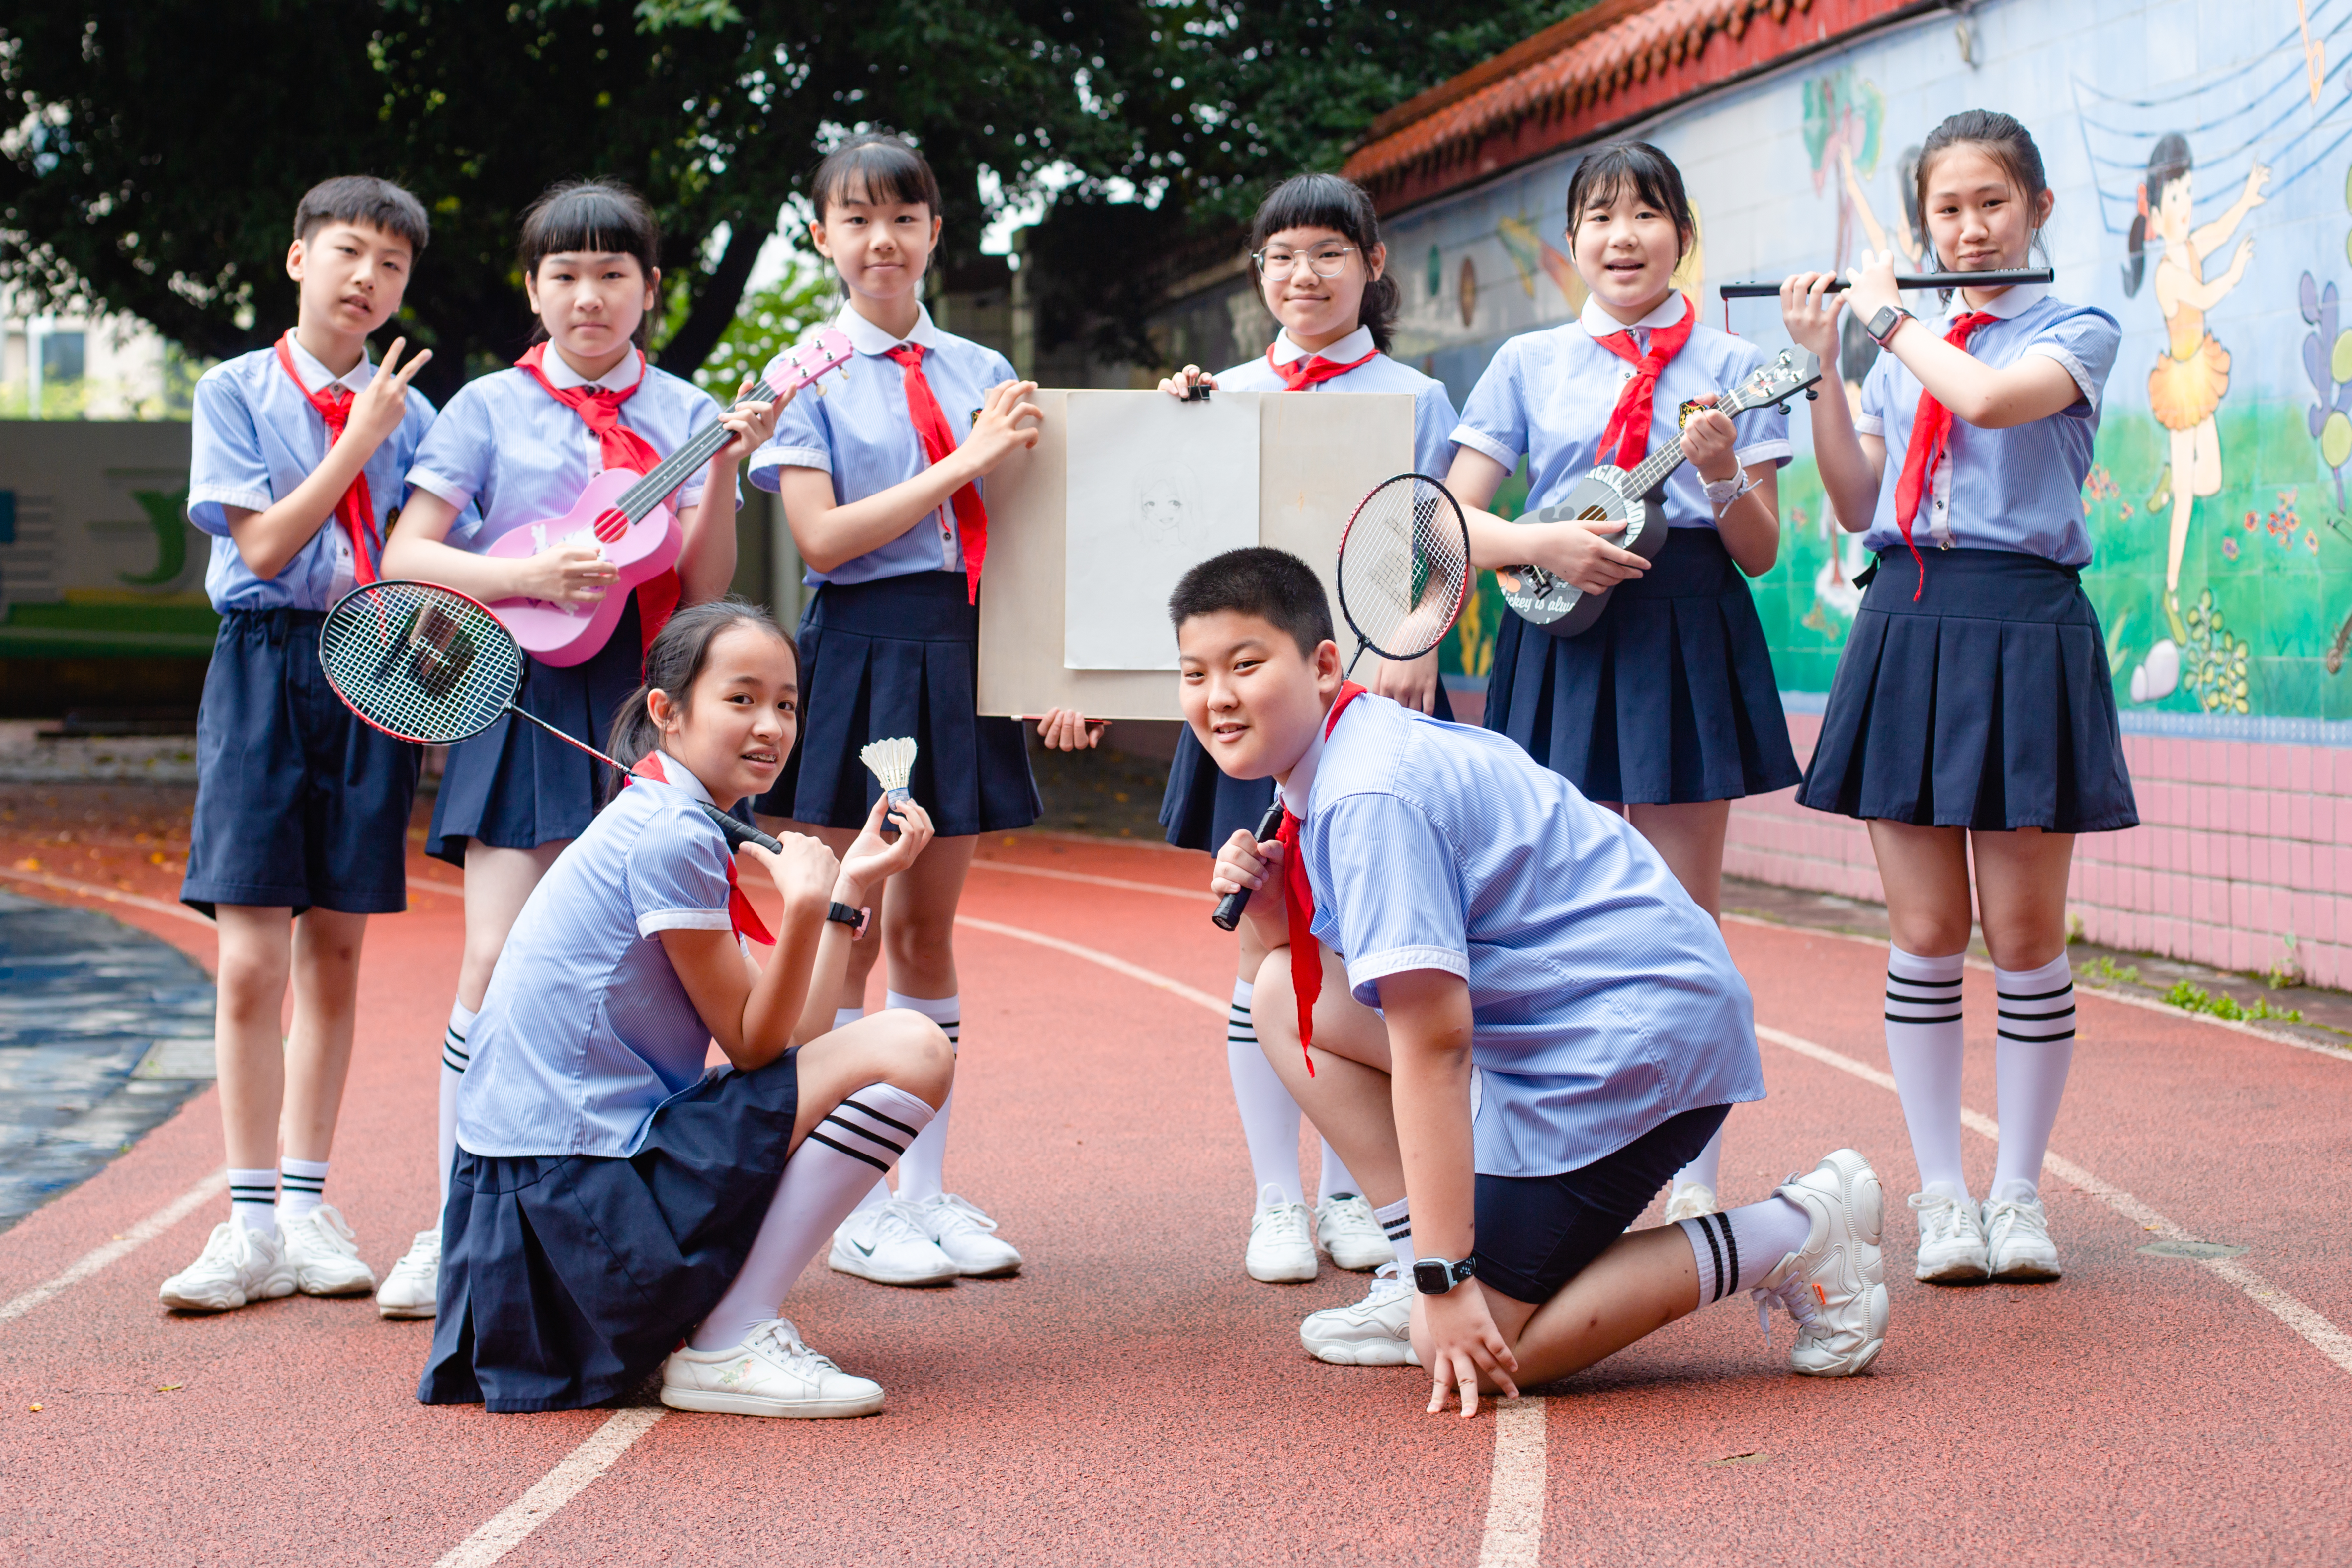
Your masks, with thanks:
[{"label": "kneeling boy with a black smartwatch, hand on the track", "polygon": [[1762,1204],[1625,1232],[1764,1098],[1748,985],[1642,835],[1505,736],[1345,682],[1291,555],[1202,562],[1169,616],[1192,733],[1287,806],[1282,839],[1237,832],[1211,882],[1254,889],[1258,1039],[1397,1246],[1385,1298],[1315,1314],[1308,1347],[1428,1366],[1430,1410],[1458,1389],[1470,1415],[1750,1291],[1797,1319],[1795,1371],[1867,1368],[1882,1194],[1853,1150]]}]

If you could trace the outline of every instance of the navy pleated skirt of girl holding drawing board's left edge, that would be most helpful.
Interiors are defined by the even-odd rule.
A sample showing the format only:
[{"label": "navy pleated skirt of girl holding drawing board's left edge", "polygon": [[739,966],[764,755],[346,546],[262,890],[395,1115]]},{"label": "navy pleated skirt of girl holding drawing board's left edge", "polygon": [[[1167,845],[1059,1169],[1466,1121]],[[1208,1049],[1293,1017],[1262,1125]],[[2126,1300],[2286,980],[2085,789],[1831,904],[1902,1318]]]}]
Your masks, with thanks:
[{"label": "navy pleated skirt of girl holding drawing board's left edge", "polygon": [[800,745],[767,816],[863,827],[882,788],[868,741],[915,736],[915,799],[943,839],[1028,827],[1044,811],[1018,719],[978,715],[981,611],[962,571],[826,583],[800,616]]}]

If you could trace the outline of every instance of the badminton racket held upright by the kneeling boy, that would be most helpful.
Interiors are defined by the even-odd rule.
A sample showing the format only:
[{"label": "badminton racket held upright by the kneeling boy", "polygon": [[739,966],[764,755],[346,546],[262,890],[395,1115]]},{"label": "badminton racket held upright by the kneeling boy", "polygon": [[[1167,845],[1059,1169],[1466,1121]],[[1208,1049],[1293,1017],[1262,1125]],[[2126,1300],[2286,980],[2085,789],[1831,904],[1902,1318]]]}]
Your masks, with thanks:
[{"label": "badminton racket held upright by the kneeling boy", "polygon": [[[1421,658],[1454,630],[1468,595],[1470,524],[1461,503],[1428,475],[1383,480],[1338,536],[1338,614],[1355,632],[1348,675],[1355,675],[1364,649],[1399,663]],[[1282,797],[1275,795],[1258,823],[1258,842],[1279,827]],[[1225,893],[1209,919],[1232,931],[1247,903],[1247,889]]]}]

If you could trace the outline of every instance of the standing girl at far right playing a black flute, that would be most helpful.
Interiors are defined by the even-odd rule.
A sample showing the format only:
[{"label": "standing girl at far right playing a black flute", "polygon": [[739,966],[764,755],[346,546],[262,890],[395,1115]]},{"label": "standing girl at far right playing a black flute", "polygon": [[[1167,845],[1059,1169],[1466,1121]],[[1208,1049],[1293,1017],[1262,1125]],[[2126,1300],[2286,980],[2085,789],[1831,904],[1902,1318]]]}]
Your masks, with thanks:
[{"label": "standing girl at far right playing a black flute", "polygon": [[[1917,181],[1936,263],[1955,273],[2027,266],[2056,202],[2034,139],[1990,110],[1938,125]],[[1780,315],[1825,353],[1844,303],[1884,350],[1858,416],[1842,397],[1813,404],[1823,489],[1879,567],[1797,799],[1867,820],[1886,884],[1886,1058],[1919,1161],[1917,1276],[2056,1279],[2039,1175],[2074,1060],[2067,863],[2077,832],[2140,820],[2082,592],[2082,482],[2122,334],[2046,284],[1959,289],[1922,322],[1891,256],[1856,268],[1844,301],[1828,282],[1790,277]],[[1971,853],[1999,992],[2002,1143],[1983,1204],[1959,1161]]]}]

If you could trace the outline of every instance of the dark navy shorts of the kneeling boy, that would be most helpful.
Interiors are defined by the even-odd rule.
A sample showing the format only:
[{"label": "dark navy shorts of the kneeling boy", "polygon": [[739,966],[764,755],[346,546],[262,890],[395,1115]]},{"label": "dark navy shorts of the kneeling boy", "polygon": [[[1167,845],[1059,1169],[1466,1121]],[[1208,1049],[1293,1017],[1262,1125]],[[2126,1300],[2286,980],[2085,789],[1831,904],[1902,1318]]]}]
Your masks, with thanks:
[{"label": "dark navy shorts of the kneeling boy", "polygon": [[1729,1114],[1729,1105],[1686,1110],[1559,1175],[1479,1173],[1477,1279],[1519,1302],[1552,1300],[1698,1159]]}]

